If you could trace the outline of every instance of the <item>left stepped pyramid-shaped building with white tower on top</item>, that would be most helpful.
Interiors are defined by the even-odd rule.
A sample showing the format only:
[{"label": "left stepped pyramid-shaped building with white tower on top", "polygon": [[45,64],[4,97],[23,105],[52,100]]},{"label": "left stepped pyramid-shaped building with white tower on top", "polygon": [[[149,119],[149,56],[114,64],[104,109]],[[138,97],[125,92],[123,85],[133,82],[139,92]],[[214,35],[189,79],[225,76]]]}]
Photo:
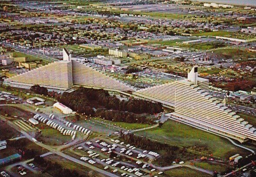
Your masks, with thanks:
[{"label": "left stepped pyramid-shaped building with white tower on top", "polygon": [[97,68],[79,59],[72,59],[71,54],[63,48],[63,60],[26,71],[4,80],[5,85],[30,89],[40,85],[52,90],[69,90],[73,86],[106,89],[113,91],[134,91],[135,89],[104,74]]}]

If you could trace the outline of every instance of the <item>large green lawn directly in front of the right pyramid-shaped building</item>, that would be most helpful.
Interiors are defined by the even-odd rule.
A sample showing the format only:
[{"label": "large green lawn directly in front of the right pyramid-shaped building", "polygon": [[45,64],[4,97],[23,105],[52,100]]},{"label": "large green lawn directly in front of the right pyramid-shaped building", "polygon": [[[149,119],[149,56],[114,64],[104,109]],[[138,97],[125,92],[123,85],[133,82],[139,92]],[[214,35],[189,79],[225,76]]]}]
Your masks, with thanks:
[{"label": "large green lawn directly in front of the right pyramid-shaped building", "polygon": [[140,131],[136,134],[197,152],[213,154],[226,160],[235,153],[242,156],[249,154],[249,151],[232,145],[224,138],[173,120],[166,121],[161,128]]}]

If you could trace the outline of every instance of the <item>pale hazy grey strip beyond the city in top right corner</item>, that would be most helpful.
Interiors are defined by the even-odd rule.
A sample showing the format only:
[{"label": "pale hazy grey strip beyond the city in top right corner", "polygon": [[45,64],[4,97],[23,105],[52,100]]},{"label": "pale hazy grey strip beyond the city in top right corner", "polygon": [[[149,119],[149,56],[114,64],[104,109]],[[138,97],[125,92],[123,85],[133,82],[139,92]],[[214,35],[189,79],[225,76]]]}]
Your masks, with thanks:
[{"label": "pale hazy grey strip beyond the city in top right corner", "polygon": [[198,2],[209,2],[209,3],[225,3],[242,6],[256,6],[255,0],[192,0]]}]

